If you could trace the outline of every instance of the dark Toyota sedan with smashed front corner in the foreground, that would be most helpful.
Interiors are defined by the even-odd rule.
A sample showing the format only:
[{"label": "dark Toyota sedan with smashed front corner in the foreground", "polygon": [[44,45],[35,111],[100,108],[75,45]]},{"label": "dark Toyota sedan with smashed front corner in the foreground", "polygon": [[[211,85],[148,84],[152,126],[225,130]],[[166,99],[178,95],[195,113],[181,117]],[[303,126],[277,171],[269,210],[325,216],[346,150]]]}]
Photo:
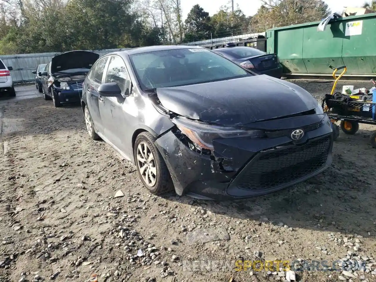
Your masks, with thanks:
[{"label": "dark Toyota sedan with smashed front corner in the foreground", "polygon": [[135,164],[153,194],[242,199],[332,162],[331,122],[307,91],[202,47],[105,55],[81,103],[89,136]]}]

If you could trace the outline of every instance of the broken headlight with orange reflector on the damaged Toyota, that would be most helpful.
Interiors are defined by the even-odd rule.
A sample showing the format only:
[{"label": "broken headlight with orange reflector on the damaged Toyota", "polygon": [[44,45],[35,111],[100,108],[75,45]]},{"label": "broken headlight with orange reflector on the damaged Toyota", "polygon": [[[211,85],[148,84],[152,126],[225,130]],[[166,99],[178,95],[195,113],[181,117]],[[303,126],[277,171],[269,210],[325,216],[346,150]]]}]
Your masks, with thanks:
[{"label": "broken headlight with orange reflector on the damaged Toyota", "polygon": [[214,150],[213,140],[236,137],[263,137],[262,130],[242,130],[233,127],[210,125],[186,118],[173,118],[172,122],[187,136],[197,149]]}]

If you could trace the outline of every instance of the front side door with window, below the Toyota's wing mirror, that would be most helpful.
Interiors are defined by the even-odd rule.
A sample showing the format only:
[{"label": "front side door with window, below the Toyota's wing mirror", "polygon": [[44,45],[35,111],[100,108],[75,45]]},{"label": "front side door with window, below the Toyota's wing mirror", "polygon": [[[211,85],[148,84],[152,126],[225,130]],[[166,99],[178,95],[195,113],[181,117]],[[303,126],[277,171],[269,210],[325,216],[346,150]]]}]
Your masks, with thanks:
[{"label": "front side door with window, below the Toyota's wing mirror", "polygon": [[111,56],[104,82],[116,82],[121,89],[121,97],[103,97],[99,103],[106,138],[125,155],[132,157],[130,132],[138,110],[132,93],[132,82],[120,56]]}]

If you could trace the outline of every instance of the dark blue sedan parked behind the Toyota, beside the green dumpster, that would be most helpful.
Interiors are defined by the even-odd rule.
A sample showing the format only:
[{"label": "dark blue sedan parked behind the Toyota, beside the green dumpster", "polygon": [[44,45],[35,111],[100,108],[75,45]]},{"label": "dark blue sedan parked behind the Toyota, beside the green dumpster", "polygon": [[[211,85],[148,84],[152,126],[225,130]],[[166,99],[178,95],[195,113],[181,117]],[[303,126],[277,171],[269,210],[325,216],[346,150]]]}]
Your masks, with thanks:
[{"label": "dark blue sedan parked behind the Toyota, beside the green dumpster", "polygon": [[234,43],[227,43],[226,47],[212,51],[254,73],[267,74],[277,78],[282,77],[282,65],[276,54],[268,54],[252,47],[236,46]]}]

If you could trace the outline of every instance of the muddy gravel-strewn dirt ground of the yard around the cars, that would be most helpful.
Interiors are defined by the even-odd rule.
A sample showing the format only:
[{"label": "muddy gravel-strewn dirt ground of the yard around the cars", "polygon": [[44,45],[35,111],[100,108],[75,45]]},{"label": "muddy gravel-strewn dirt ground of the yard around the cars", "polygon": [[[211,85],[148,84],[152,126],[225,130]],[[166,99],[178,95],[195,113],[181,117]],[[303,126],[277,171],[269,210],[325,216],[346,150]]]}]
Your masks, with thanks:
[{"label": "muddy gravel-strewn dirt ground of the yard around the cars", "polygon": [[[317,98],[332,87],[293,82]],[[376,281],[376,127],[341,132],[314,179],[213,202],[147,193],[89,139],[79,106],[2,100],[0,120],[0,281],[285,281],[282,268],[257,271],[265,260],[296,262],[298,281]]]}]

